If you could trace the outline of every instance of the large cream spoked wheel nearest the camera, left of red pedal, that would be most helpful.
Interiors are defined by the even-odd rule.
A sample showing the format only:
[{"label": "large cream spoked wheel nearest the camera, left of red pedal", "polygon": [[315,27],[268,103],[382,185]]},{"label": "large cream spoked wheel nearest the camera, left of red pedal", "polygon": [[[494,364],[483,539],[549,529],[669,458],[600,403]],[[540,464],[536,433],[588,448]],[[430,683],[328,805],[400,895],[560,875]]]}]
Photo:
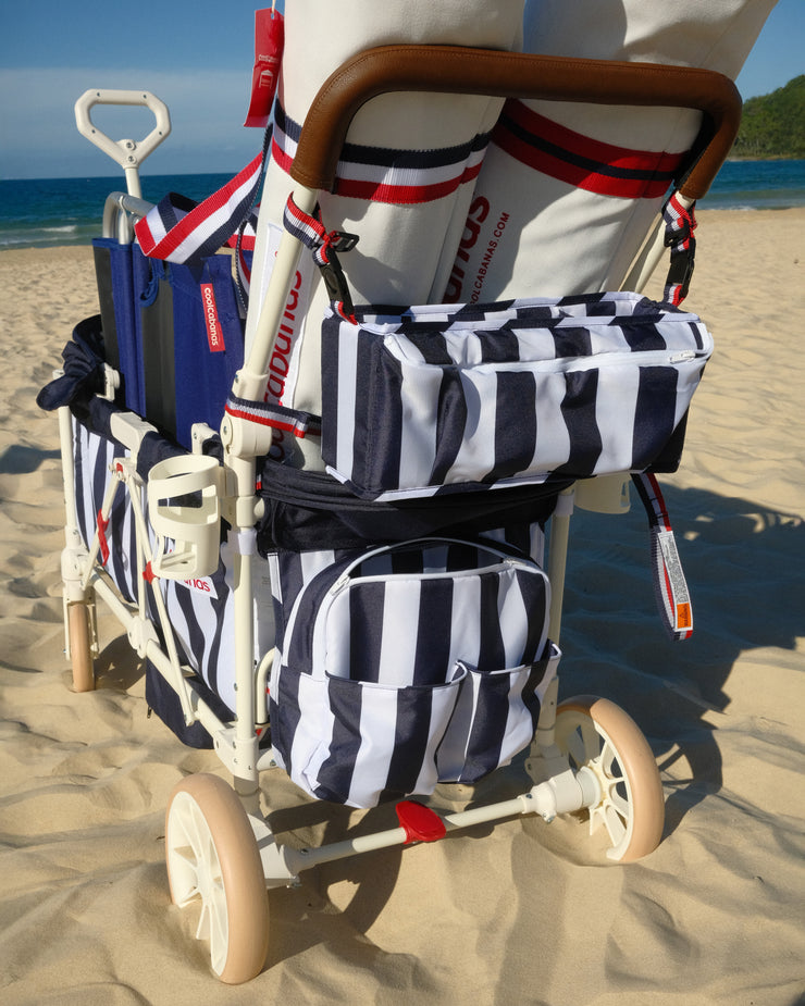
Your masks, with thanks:
[{"label": "large cream spoked wheel nearest the camera, left of red pedal", "polygon": [[197,940],[210,944],[212,970],[238,984],[258,974],[269,944],[269,903],[255,833],[240,800],[216,775],[188,775],[165,819],[171,898],[200,903]]}]

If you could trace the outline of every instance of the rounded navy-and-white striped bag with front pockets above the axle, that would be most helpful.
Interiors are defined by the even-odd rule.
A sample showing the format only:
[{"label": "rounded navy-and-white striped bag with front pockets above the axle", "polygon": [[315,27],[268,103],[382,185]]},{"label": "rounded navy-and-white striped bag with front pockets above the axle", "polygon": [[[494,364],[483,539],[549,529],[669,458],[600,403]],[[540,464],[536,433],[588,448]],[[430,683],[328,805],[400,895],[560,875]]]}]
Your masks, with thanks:
[{"label": "rounded navy-and-white striped bag with front pockets above the axle", "polygon": [[308,793],[355,807],[425,795],[530,743],[558,661],[536,563],[447,539],[274,563],[287,621],[272,741]]}]

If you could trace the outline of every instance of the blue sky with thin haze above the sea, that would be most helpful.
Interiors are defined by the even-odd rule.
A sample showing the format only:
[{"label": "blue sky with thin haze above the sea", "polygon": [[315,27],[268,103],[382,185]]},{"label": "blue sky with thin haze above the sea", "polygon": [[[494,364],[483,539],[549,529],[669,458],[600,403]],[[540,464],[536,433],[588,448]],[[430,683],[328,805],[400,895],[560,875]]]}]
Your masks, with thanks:
[{"label": "blue sky with thin haze above the sea", "polygon": [[[256,5],[0,0],[0,179],[109,177],[120,171],[76,131],[73,107],[90,87],[150,90],[168,104],[172,134],[145,162],[144,174],[235,174],[261,142],[260,131],[242,125]],[[283,5],[281,0],[277,8]],[[805,0],[778,0],[738,87],[745,100],[802,73]],[[153,125],[143,109],[96,109],[94,121],[114,139],[140,139]]]}]

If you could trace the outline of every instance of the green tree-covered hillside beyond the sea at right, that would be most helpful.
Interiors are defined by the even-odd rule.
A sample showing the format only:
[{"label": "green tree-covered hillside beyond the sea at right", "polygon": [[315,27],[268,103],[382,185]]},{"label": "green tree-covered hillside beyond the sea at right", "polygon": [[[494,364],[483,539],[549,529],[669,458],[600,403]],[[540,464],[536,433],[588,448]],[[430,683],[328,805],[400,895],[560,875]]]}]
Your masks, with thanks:
[{"label": "green tree-covered hillside beyond the sea at right", "polygon": [[805,74],[743,107],[734,158],[805,158]]}]

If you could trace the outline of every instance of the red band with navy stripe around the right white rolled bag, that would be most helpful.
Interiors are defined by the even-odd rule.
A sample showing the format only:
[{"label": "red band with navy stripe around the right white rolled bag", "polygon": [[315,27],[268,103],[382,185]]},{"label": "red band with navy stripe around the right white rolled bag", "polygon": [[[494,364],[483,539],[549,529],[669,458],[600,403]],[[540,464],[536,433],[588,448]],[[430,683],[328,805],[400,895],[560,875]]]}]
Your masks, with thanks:
[{"label": "red band with navy stripe around the right white rolled bag", "polygon": [[[533,136],[535,141],[558,148],[556,152],[532,146],[518,136],[507,120]],[[682,154],[652,150],[631,150],[612,144],[592,139],[559,123],[540,115],[521,101],[506,103],[504,117],[492,134],[492,141],[522,164],[543,174],[566,182],[577,188],[597,192],[600,196],[619,196],[628,199],[658,198],[665,195]],[[573,159],[592,161],[595,164],[573,163]],[[610,167],[626,174],[616,177],[607,174]],[[639,172],[643,177],[628,177],[629,172]],[[648,174],[648,177],[645,175]]]}]

